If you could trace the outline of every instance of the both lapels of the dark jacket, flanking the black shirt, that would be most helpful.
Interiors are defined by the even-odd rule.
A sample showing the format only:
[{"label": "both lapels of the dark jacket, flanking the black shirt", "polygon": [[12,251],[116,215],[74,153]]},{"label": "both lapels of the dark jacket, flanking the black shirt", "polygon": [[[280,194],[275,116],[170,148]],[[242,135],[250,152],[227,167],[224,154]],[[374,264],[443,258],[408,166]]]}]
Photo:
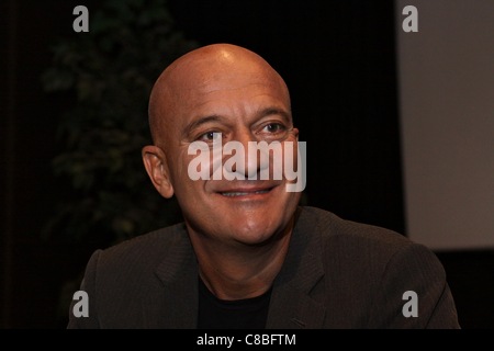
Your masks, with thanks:
[{"label": "both lapels of the dark jacket, flanking the black shirt", "polygon": [[[147,328],[197,328],[198,263],[184,225],[155,273],[162,294],[149,294],[143,306]],[[322,242],[314,218],[299,207],[283,267],[274,280],[267,328],[321,328],[325,307],[308,296],[324,275]]]}]

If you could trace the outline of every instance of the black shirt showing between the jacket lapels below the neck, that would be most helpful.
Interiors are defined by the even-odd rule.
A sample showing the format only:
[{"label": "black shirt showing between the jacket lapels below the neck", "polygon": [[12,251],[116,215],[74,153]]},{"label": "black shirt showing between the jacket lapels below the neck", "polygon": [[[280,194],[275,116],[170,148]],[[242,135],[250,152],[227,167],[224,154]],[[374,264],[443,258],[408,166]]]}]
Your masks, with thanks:
[{"label": "black shirt showing between the jacket lapels below the neck", "polygon": [[217,298],[199,278],[199,329],[265,329],[271,290],[245,299]]}]

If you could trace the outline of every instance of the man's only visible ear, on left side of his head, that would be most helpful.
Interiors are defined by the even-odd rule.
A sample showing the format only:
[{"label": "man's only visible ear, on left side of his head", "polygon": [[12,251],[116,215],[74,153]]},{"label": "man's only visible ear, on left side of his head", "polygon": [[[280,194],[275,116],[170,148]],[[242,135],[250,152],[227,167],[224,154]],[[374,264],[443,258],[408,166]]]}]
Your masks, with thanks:
[{"label": "man's only visible ear, on left side of his head", "polygon": [[173,196],[165,152],[157,146],[146,146],[143,148],[143,161],[153,185],[161,196],[166,199]]}]

